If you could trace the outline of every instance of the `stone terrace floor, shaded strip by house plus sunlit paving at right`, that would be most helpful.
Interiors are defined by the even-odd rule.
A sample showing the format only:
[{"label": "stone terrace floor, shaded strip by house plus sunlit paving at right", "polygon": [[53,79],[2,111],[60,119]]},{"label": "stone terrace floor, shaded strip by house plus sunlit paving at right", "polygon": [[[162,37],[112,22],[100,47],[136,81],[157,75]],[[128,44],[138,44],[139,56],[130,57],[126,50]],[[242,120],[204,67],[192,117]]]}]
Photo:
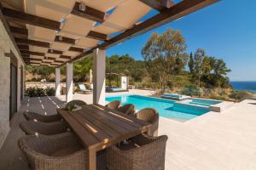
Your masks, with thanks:
[{"label": "stone terrace floor, shaded strip by house plus sunlit paving at right", "polygon": [[[88,99],[75,94],[74,99]],[[88,100],[87,100],[88,102]],[[55,97],[25,99],[0,151],[0,169],[28,169],[17,146],[24,135],[22,111],[55,114],[64,101]],[[245,100],[222,113],[209,112],[188,122],[160,118],[160,134],[168,135],[166,169],[256,169],[256,101]]]}]

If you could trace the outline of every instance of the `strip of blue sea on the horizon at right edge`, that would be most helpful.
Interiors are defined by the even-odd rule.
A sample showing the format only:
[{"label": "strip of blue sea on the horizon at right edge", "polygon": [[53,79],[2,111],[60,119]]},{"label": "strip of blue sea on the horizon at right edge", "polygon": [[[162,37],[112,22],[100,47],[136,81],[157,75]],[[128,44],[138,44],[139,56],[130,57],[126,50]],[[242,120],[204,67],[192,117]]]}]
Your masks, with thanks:
[{"label": "strip of blue sea on the horizon at right edge", "polygon": [[249,90],[256,93],[256,82],[230,82],[235,90]]}]

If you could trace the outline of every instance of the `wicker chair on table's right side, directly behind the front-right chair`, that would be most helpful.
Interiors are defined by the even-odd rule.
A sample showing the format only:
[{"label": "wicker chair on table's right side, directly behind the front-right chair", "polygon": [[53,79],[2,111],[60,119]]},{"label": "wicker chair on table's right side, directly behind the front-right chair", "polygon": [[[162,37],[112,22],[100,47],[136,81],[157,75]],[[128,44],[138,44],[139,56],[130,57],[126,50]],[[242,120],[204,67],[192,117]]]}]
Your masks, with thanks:
[{"label": "wicker chair on table's right side, directly behind the front-right chair", "polygon": [[148,131],[148,135],[157,136],[158,135],[158,125],[159,125],[159,114],[153,108],[145,108],[136,113],[138,119],[143,120],[151,124]]}]

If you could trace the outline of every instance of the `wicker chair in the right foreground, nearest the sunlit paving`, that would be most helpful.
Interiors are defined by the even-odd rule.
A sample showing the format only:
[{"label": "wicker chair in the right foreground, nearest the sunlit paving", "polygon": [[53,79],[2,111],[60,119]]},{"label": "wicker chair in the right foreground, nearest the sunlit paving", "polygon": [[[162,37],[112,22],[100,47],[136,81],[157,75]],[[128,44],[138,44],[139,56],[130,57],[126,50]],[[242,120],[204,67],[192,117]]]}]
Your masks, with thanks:
[{"label": "wicker chair in the right foreground, nearest the sunlit paving", "polygon": [[109,170],[164,170],[167,136],[133,138],[130,144],[107,148],[106,165]]}]

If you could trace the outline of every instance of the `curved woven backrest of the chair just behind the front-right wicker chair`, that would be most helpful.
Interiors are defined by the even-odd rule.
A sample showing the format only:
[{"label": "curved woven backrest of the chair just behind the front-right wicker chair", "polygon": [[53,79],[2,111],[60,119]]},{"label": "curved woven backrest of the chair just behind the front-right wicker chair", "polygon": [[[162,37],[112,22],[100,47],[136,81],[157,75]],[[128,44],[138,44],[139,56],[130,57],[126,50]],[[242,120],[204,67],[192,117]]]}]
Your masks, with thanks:
[{"label": "curved woven backrest of the chair just behind the front-right wicker chair", "polygon": [[136,113],[136,116],[138,119],[141,119],[141,120],[143,120],[145,122],[149,122],[149,123],[153,123],[153,122],[157,121],[157,119],[159,118],[157,111],[155,111],[155,109],[153,109],[153,108],[145,108],[141,111],[138,111]]}]

